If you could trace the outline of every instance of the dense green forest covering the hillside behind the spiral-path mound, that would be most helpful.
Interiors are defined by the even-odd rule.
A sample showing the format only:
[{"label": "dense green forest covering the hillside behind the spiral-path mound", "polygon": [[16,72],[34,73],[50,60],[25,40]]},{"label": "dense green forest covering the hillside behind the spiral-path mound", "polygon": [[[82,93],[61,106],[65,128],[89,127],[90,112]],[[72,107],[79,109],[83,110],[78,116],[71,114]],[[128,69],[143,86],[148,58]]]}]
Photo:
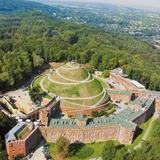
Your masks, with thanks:
[{"label": "dense green forest covering the hillside behind the spiral-path mound", "polygon": [[0,90],[50,61],[69,60],[102,71],[122,67],[147,88],[160,90],[159,50],[145,42],[39,11],[0,16]]}]

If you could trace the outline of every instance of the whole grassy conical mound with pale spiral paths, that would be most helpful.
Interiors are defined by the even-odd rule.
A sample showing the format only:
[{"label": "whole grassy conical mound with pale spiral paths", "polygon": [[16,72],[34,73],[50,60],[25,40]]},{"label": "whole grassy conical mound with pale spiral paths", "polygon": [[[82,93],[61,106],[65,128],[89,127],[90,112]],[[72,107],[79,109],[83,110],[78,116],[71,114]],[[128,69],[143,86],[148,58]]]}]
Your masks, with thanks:
[{"label": "whole grassy conical mound with pale spiral paths", "polygon": [[48,76],[41,76],[35,80],[49,94],[62,98],[63,106],[86,107],[100,105],[107,100],[104,85],[94,78],[87,70],[77,64],[66,64]]}]

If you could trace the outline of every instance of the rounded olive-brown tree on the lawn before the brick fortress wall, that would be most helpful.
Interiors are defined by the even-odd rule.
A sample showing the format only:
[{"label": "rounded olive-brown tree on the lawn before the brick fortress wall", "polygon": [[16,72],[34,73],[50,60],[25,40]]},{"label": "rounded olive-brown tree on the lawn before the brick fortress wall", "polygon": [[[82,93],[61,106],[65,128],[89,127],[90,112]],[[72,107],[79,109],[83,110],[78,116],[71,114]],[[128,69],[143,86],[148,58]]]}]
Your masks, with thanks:
[{"label": "rounded olive-brown tree on the lawn before the brick fortress wall", "polygon": [[69,146],[70,146],[70,142],[67,138],[60,136],[57,140],[56,140],[56,149],[58,154],[62,157],[62,158],[66,158],[69,155]]}]

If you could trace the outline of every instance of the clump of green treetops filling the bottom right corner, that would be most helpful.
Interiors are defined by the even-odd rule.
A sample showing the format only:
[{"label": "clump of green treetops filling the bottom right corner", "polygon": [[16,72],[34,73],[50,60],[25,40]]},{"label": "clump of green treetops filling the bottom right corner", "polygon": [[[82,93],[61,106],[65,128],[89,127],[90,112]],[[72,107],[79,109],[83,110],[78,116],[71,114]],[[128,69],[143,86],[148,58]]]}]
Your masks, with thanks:
[{"label": "clump of green treetops filling the bottom right corner", "polygon": [[160,118],[153,126],[147,141],[140,148],[134,149],[127,145],[117,145],[113,141],[106,142],[102,157],[104,160],[157,160],[160,159]]}]

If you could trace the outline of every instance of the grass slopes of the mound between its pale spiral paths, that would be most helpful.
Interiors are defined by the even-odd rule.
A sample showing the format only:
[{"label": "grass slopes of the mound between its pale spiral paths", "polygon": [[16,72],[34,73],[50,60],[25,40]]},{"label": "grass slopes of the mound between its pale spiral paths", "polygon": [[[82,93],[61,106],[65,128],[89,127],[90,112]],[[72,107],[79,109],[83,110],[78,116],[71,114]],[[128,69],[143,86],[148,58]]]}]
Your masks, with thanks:
[{"label": "grass slopes of the mound between its pale spiral paths", "polygon": [[[63,66],[66,67],[66,66]],[[88,77],[88,72],[85,69],[82,68],[77,68],[73,70],[68,70],[64,68],[59,68],[58,71],[59,73],[69,79],[72,80],[84,80]],[[68,68],[68,66],[66,67]],[[37,77],[34,82],[33,82],[33,87],[37,86],[40,84],[41,80],[44,79],[43,81],[43,86],[46,90],[48,90],[50,93],[54,93],[55,95],[61,96],[61,97],[69,97],[69,98],[87,98],[87,97],[92,97],[100,94],[103,91],[103,88],[108,88],[107,83],[105,83],[103,80],[97,78],[94,79],[93,81],[89,83],[80,83],[77,85],[65,85],[65,84],[57,84],[54,83],[50,80],[48,80],[47,76],[45,75],[40,75]],[[55,72],[51,75],[51,78],[55,81],[58,82],[64,82],[64,83],[71,83],[70,81],[62,79],[60,76],[58,76]],[[93,77],[91,76],[90,79]],[[95,98],[92,99],[79,99],[79,100],[68,100],[68,102],[63,102],[64,105],[76,105],[76,107],[81,107],[81,105],[88,105],[92,106],[95,105],[97,102],[100,100],[105,101],[107,99],[107,96],[105,96],[103,99],[102,97],[104,94],[101,94]],[[45,98],[51,99],[50,96],[46,95]],[[75,106],[75,105],[74,105]]]}]

